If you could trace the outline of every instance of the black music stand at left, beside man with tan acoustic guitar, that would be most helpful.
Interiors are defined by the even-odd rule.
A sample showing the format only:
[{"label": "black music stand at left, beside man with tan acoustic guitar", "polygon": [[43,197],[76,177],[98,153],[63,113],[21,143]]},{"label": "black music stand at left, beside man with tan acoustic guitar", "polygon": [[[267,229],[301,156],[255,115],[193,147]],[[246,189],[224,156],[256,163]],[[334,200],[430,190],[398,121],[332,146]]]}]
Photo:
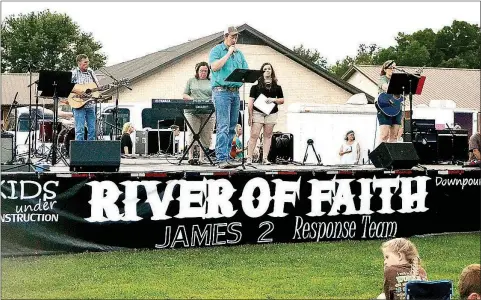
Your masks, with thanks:
[{"label": "black music stand at left, beside man with tan acoustic guitar", "polygon": [[[40,96],[52,97],[53,99],[53,141],[52,148],[50,149],[50,153],[52,153],[52,166],[57,163],[58,99],[59,97],[67,98],[74,86],[75,83],[72,83],[72,72],[48,70],[41,70],[39,72],[38,90],[42,91]],[[62,154],[60,154],[60,156],[67,165]]]}]

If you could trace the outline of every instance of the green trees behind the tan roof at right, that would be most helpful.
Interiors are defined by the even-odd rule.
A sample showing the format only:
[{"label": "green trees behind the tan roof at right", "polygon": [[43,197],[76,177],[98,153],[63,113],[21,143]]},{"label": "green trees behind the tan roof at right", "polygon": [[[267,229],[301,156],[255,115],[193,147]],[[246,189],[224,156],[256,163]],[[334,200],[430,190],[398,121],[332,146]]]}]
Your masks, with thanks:
[{"label": "green trees behind the tan roof at right", "polygon": [[353,64],[381,65],[388,59],[401,66],[481,68],[481,31],[477,24],[455,20],[438,32],[431,28],[412,34],[399,32],[395,41],[387,48],[361,44],[356,56],[346,56],[328,69],[341,77]]}]

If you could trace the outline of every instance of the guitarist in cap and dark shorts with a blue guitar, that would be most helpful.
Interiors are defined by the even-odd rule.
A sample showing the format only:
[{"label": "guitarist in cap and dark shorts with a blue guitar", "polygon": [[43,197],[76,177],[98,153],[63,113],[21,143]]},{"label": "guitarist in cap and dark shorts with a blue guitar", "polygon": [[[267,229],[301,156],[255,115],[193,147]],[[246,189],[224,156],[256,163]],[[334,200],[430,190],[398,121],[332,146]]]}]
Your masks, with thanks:
[{"label": "guitarist in cap and dark shorts with a blue guitar", "polygon": [[382,65],[381,77],[379,78],[379,97],[376,102],[378,108],[377,119],[379,121],[380,142],[395,143],[398,140],[399,128],[402,122],[401,95],[387,94],[389,81],[396,63],[388,60]]}]

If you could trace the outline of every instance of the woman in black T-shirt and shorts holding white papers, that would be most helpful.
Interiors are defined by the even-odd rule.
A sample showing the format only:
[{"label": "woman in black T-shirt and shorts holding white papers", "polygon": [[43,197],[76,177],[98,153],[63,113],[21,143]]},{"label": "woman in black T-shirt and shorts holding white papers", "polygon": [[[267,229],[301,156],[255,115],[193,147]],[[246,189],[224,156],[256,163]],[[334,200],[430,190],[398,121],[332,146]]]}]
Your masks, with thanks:
[{"label": "woman in black T-shirt and shorts holding white papers", "polygon": [[263,159],[264,164],[271,164],[267,157],[271,148],[272,132],[277,123],[277,106],[284,103],[282,87],[277,84],[276,73],[270,63],[261,67],[263,76],[257,84],[251,87],[249,94],[249,126],[251,134],[247,148],[247,163],[252,163],[252,153],[259,138],[261,129],[264,130]]}]

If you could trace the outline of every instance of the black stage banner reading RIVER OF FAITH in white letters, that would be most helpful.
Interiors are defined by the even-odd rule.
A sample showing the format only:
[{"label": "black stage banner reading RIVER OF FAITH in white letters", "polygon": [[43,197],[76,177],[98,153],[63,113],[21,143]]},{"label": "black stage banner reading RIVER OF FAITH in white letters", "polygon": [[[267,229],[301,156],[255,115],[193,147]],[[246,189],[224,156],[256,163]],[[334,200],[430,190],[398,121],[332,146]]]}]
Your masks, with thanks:
[{"label": "black stage banner reading RIVER OF FAITH in white letters", "polygon": [[479,170],[440,173],[3,176],[2,255],[479,231]]}]

